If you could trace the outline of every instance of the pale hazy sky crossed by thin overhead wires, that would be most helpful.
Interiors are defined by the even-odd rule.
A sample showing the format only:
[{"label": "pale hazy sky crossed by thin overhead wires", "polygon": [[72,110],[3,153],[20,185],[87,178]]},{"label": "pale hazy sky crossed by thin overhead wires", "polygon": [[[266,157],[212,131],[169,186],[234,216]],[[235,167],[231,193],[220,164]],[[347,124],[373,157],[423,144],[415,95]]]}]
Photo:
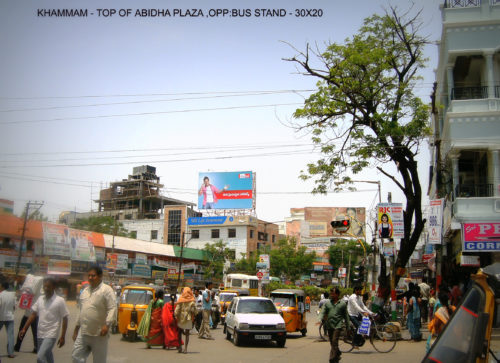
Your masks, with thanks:
[{"label": "pale hazy sky crossed by thin overhead wires", "polygon": [[[440,37],[441,2],[422,0],[414,6],[423,8],[422,34],[431,40]],[[402,9],[411,4],[393,3]],[[198,172],[253,170],[257,216],[267,221],[283,220],[290,208],[373,207],[373,184],[357,185],[365,192],[307,194],[313,184],[298,176],[318,155],[311,153],[307,134],[287,125],[316,80],[297,74],[282,58],[296,54],[286,43],[303,50],[307,43],[323,48],[325,42],[342,42],[388,4],[0,2],[0,198],[14,200],[16,213],[28,200],[44,201],[42,212],[55,220],[63,210],[95,209],[91,197],[98,198],[101,185],[127,178],[134,166],[147,163],[157,168],[165,195],[192,202]],[[88,9],[89,17],[37,17],[37,9],[70,6]],[[132,14],[99,17],[100,8],[129,8]],[[139,18],[133,16],[138,8],[200,8],[205,15],[236,8],[250,9],[252,16]],[[260,8],[284,8],[292,15],[254,16]],[[295,9],[321,9],[322,17],[295,17]],[[429,46],[427,56],[424,80],[415,89],[425,102],[437,47]],[[281,90],[295,92],[276,92]],[[427,149],[419,160],[425,191]],[[79,164],[85,165],[74,166]],[[356,179],[380,180],[383,200],[391,191],[393,202],[403,202],[396,187],[374,171]]]}]

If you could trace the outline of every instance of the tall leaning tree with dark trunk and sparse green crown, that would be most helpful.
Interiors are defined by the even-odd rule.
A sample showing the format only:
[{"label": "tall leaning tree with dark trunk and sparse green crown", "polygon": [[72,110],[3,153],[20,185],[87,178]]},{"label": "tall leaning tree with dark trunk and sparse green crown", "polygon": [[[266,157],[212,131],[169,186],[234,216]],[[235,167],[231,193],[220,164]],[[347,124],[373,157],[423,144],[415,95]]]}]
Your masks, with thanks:
[{"label": "tall leaning tree with dark trunk and sparse green crown", "polygon": [[[405,232],[395,271],[406,266],[425,224],[416,156],[430,132],[429,110],[414,94],[427,43],[420,24],[419,14],[390,8],[365,19],[344,43],[322,52],[307,46],[288,59],[318,79],[318,90],[294,114],[323,154],[302,174],[315,179],[314,192],[346,187],[354,174],[375,167],[404,193]],[[396,283],[399,276],[393,276]],[[379,282],[390,286],[386,273]]]}]

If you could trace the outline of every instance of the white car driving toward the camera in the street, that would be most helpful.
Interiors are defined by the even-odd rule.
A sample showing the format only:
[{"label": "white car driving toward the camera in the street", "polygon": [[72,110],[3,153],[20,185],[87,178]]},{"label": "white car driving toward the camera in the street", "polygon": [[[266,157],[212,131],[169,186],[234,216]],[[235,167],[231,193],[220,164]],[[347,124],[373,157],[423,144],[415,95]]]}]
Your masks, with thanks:
[{"label": "white car driving toward the camera in the street", "polygon": [[282,348],[286,343],[286,327],[271,299],[257,296],[235,297],[227,309],[224,333],[234,345],[245,340],[274,340]]}]

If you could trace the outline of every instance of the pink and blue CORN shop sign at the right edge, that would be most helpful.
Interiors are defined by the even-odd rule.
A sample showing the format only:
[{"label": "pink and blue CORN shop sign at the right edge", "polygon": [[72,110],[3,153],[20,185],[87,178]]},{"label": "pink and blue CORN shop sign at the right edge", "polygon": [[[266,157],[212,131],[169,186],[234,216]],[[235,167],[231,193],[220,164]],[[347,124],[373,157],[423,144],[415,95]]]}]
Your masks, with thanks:
[{"label": "pink and blue CORN shop sign at the right edge", "polygon": [[462,240],[464,252],[498,252],[500,223],[463,223]]}]

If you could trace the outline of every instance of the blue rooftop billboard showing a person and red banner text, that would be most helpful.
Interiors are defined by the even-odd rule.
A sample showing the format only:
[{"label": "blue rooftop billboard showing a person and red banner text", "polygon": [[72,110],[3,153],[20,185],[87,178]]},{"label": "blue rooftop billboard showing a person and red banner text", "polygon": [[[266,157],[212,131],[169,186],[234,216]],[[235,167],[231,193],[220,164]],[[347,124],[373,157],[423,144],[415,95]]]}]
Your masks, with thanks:
[{"label": "blue rooftop billboard showing a person and red banner text", "polygon": [[251,171],[200,173],[198,186],[198,209],[253,208]]}]

